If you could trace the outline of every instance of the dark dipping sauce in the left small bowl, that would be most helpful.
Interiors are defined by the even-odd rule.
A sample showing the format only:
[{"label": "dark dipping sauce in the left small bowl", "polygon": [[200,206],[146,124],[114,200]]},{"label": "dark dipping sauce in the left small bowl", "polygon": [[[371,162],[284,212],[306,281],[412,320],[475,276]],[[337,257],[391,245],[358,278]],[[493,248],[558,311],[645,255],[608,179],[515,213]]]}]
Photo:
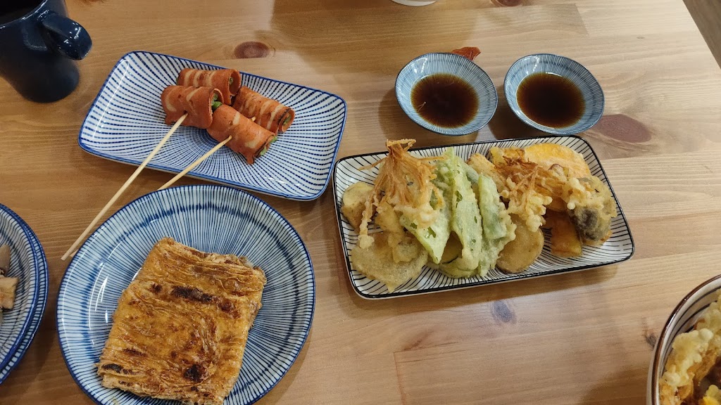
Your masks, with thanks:
[{"label": "dark dipping sauce in the left small bowl", "polygon": [[452,74],[432,74],[420,79],[410,92],[410,102],[424,120],[457,128],[473,120],[478,96],[464,79]]}]

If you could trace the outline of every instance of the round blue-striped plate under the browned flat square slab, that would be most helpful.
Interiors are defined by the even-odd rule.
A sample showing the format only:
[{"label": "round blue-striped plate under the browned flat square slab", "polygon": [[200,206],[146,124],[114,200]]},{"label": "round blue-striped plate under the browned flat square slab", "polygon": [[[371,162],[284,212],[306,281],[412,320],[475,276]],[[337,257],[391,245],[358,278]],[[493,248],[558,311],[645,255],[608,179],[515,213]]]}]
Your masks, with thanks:
[{"label": "round blue-striped plate under the browned flat square slab", "polygon": [[166,236],[203,252],[244,255],[265,271],[262,308],[225,402],[252,404],[298,357],[313,319],[315,282],[308,251],[293,226],[270,205],[231,187],[151,192],[125,205],[87,239],[58,293],[58,337],[68,370],[97,404],[176,404],[104,388],[95,367],[118,298],[156,241]]}]

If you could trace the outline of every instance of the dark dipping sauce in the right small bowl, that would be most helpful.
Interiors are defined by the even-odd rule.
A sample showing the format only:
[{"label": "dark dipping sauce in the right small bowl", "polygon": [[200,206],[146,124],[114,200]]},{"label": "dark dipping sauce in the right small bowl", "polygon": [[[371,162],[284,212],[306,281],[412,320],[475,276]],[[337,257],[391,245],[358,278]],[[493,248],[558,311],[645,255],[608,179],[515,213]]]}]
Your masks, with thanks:
[{"label": "dark dipping sauce in the right small bowl", "polygon": [[585,110],[578,86],[563,76],[534,73],[521,81],[516,91],[518,107],[531,120],[551,128],[578,123]]}]

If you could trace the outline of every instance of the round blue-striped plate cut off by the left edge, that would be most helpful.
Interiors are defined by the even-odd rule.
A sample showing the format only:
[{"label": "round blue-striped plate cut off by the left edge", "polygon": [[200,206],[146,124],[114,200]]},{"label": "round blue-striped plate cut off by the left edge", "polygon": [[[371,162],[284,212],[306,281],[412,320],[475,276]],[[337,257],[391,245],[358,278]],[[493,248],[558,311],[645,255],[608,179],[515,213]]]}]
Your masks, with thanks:
[{"label": "round blue-striped plate cut off by the left edge", "polygon": [[[42,316],[47,292],[48,267],[45,253],[30,226],[16,213],[0,204],[0,245],[10,246],[10,269],[6,276],[18,277],[15,303],[2,310],[0,323],[0,383],[27,350],[37,330],[35,315]],[[29,338],[29,340],[28,340]]]}]

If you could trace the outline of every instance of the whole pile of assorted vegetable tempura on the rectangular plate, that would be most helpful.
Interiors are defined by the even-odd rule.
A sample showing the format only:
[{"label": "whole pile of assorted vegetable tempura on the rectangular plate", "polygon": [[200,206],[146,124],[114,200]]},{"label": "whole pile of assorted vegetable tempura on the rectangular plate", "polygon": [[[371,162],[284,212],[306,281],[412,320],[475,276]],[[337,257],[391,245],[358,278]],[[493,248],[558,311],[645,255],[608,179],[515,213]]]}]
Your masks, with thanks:
[{"label": "whole pile of assorted vegetable tempura on the rectangular plate", "polygon": [[388,156],[362,168],[379,166],[374,184],[348,187],[341,207],[358,231],[353,267],[389,290],[423,264],[450,277],[523,271],[541,254],[546,218],[560,257],[610,235],[611,192],[570,148],[491,148],[490,160],[475,154],[466,163],[452,148],[417,158],[408,152],[413,143],[386,141]]}]

